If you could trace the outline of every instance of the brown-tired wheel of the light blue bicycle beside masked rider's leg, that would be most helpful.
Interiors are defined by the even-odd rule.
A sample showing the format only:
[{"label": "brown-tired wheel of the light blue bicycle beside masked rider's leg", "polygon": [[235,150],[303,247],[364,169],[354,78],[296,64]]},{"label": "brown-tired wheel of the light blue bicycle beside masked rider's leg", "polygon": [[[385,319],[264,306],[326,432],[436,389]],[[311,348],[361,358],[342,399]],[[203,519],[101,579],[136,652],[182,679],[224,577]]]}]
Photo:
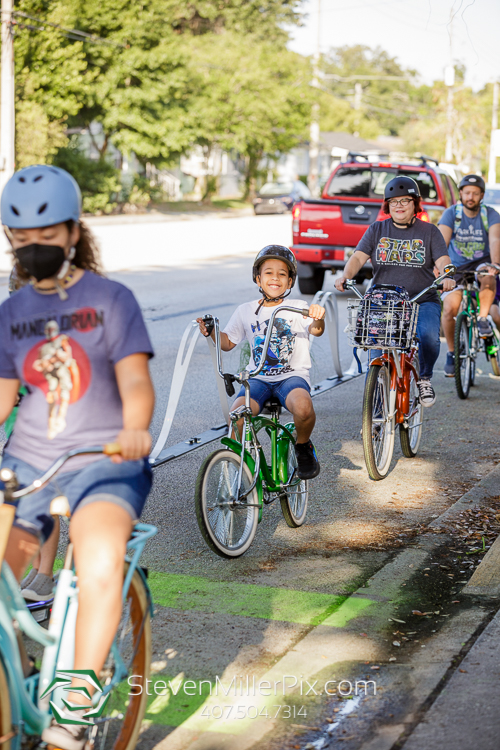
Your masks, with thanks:
[{"label": "brown-tired wheel of the light blue bicycle beside masked rider's leg", "polygon": [[[128,563],[125,564],[125,574]],[[151,617],[148,592],[136,570],[130,581],[126,601],[113,646],[100,673],[104,694],[111,693],[104,713],[90,730],[93,750],[133,750],[146,710],[146,680],[151,666]],[[142,687],[140,695],[132,684]],[[113,680],[119,682],[113,685]],[[107,690],[106,690],[107,688]],[[135,691],[136,693],[138,691]]]}]

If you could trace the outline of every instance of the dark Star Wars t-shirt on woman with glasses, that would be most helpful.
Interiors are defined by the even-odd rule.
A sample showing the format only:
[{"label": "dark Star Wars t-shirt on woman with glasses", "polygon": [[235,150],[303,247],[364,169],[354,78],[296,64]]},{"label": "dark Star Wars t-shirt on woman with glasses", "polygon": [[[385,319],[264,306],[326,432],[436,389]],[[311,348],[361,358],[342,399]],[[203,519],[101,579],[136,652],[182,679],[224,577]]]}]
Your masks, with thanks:
[{"label": "dark Star Wars t-shirt on woman with glasses", "polygon": [[[370,256],[375,284],[403,286],[410,298],[432,284],[436,260],[448,255],[439,229],[421,219],[416,219],[408,229],[394,226],[392,219],[375,221],[356,250]],[[419,303],[430,301],[438,301],[435,290],[418,300]]]}]

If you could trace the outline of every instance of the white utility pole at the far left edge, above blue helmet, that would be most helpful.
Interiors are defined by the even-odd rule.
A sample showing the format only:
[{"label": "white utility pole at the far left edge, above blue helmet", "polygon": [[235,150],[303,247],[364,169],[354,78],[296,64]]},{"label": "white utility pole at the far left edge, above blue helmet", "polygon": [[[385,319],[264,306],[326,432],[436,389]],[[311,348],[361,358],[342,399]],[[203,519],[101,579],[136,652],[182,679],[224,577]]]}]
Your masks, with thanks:
[{"label": "white utility pole at the far left edge, above blue helmet", "polygon": [[14,37],[12,33],[13,0],[2,0],[2,69],[0,100],[0,192],[14,174]]}]

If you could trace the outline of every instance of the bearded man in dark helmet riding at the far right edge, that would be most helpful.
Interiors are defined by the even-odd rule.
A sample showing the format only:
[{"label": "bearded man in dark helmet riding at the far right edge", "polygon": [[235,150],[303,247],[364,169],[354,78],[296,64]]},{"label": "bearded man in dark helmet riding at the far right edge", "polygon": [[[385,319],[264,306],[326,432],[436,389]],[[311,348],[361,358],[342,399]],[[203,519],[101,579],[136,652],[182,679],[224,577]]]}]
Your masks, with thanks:
[{"label": "bearded man in dark helmet riding at the far right edge", "polygon": [[[466,175],[458,186],[460,203],[446,209],[439,220],[439,229],[444,237],[452,263],[457,266],[455,275],[457,289],[442,295],[443,329],[448,344],[445,377],[455,374],[455,318],[462,301],[460,271],[475,271],[478,266],[500,263],[500,215],[490,206],[482,205],[485,184],[482,177]],[[487,318],[495,299],[495,269],[490,268],[489,276],[479,278],[479,316],[477,327],[481,338],[491,336],[492,330]]]}]

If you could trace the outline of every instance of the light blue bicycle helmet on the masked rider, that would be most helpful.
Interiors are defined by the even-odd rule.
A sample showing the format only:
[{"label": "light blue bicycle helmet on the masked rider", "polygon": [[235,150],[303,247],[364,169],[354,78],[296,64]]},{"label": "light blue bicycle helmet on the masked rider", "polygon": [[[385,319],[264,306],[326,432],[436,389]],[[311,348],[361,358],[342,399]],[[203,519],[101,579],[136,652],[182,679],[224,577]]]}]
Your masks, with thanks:
[{"label": "light blue bicycle helmet on the masked rider", "polygon": [[46,164],[20,169],[2,193],[2,224],[10,229],[78,221],[81,209],[82,195],[76,180],[66,170]]}]

